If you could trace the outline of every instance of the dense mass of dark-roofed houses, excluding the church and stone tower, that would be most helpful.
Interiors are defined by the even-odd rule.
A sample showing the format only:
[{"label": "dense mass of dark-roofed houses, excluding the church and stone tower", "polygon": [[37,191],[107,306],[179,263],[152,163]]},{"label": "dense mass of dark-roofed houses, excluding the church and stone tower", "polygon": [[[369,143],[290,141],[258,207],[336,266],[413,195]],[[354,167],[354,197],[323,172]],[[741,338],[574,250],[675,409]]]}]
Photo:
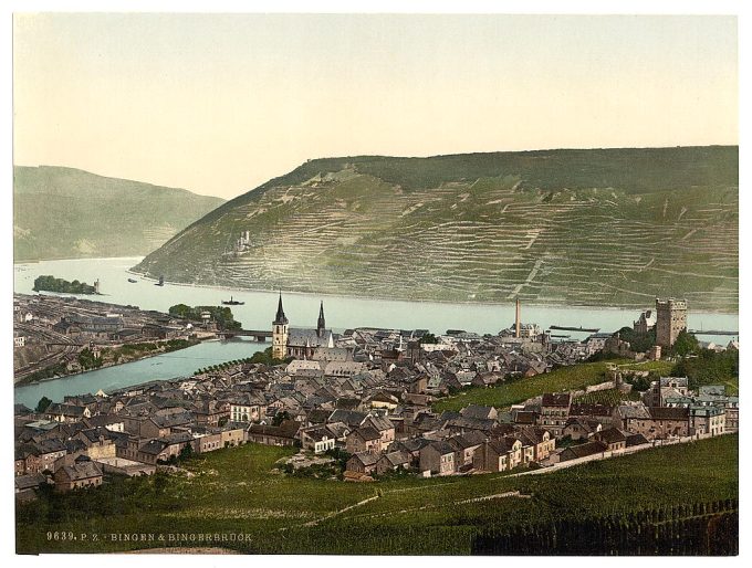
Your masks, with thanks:
[{"label": "dense mass of dark-roofed houses, excluding the church and stone tower", "polygon": [[[188,454],[247,442],[351,454],[346,478],[411,470],[425,476],[549,465],[604,449],[738,428],[737,398],[660,379],[645,402],[578,403],[550,393],[499,411],[434,412],[466,386],[524,380],[587,354],[500,334],[349,329],[286,365],[240,364],[190,378],[15,408],[19,498],[41,484],[95,486],[105,474],[148,475]],[[557,441],[564,440],[557,448]]]}]

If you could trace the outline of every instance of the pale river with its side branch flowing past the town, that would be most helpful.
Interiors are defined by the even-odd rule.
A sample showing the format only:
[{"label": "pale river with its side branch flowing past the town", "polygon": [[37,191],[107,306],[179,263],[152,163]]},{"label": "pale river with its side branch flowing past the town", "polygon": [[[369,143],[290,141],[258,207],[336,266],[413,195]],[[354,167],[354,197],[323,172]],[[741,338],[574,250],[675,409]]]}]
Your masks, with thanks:
[{"label": "pale river with its side branch flowing past the town", "polygon": [[[15,264],[13,270],[14,292],[35,294],[31,288],[34,278],[50,274],[69,281],[79,280],[93,284],[100,280],[102,296],[82,296],[113,304],[129,304],[142,309],[167,312],[175,304],[220,305],[222,299],[244,302],[242,306],[231,306],[234,318],[244,329],[270,329],[276,312],[275,293],[224,290],[216,287],[186,286],[166,283],[155,286],[154,281],[132,275],[128,269],[135,266],[140,257],[128,259],[81,259],[64,261],[43,261],[39,263]],[[137,280],[135,284],[128,277]],[[284,293],[284,312],[292,326],[315,327],[318,303],[324,302],[326,325],[335,332],[348,327],[386,327],[400,329],[429,329],[443,334],[447,329],[464,329],[478,334],[498,334],[500,329],[514,323],[514,304],[449,304],[436,302],[403,302],[366,299],[325,294]],[[646,305],[645,308],[652,306]],[[690,306],[691,308],[691,306]],[[522,322],[535,323],[547,329],[551,325],[583,326],[614,332],[631,325],[639,311],[608,309],[600,307],[550,307],[522,305]],[[701,329],[738,329],[737,314],[710,314],[689,312],[689,327]],[[552,332],[584,338],[588,334],[573,332]],[[700,336],[701,340],[725,345],[731,337]],[[219,362],[250,357],[270,344],[259,344],[249,339],[229,341],[207,341],[188,349],[159,355],[116,367],[53,379],[39,385],[15,389],[15,402],[30,408],[36,406],[42,396],[62,401],[65,395],[82,395],[137,385],[155,379],[187,377],[196,369]]]}]

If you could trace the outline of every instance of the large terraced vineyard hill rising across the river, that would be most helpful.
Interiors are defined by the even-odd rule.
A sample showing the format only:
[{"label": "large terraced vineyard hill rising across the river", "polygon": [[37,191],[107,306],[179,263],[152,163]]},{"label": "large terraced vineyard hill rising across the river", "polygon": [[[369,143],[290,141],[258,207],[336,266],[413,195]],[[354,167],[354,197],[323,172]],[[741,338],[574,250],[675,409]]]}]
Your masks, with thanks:
[{"label": "large terraced vineyard hill rising across the river", "polygon": [[[735,311],[738,147],[310,160],[136,270],[393,298]],[[238,242],[241,232],[250,242]]]}]

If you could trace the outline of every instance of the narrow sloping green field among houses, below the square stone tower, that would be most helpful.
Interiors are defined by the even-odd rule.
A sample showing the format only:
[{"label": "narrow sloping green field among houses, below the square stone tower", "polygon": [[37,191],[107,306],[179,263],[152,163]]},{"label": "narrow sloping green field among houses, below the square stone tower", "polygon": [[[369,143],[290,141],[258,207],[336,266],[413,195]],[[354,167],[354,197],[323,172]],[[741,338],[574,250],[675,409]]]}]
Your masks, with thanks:
[{"label": "narrow sloping green field among houses, below the square stone tower", "polygon": [[607,380],[606,369],[608,369],[608,366],[623,362],[623,360],[585,362],[572,367],[561,367],[528,379],[502,382],[498,387],[471,387],[453,397],[437,400],[432,404],[432,409],[435,412],[457,411],[468,404],[506,408],[544,392],[564,392],[604,382]]}]

